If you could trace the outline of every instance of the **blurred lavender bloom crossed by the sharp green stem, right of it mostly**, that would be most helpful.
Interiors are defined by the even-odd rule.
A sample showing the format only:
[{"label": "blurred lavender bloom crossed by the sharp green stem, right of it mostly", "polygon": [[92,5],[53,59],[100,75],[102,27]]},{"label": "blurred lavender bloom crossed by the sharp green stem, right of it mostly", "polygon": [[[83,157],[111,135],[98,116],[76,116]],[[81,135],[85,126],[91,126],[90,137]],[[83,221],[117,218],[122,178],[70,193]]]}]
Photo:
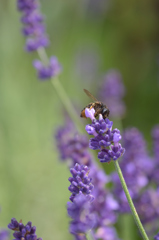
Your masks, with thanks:
[{"label": "blurred lavender bloom crossed by the sharp green stem, right of it mostly", "polygon": [[[146,144],[142,134],[136,129],[127,129],[123,133],[123,146],[126,152],[120,167],[133,200],[138,198],[140,192],[149,183],[152,174],[153,162],[146,151]],[[117,176],[112,174],[114,194],[119,201],[122,212],[130,211],[124,191]]]}]

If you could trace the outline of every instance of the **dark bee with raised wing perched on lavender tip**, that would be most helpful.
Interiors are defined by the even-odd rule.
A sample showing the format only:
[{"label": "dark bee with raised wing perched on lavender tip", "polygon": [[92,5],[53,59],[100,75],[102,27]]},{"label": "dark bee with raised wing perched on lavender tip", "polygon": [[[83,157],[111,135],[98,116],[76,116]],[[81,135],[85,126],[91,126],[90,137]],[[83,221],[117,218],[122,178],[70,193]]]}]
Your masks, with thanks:
[{"label": "dark bee with raised wing perched on lavender tip", "polygon": [[95,110],[95,117],[98,117],[99,114],[102,114],[103,118],[107,118],[109,116],[109,109],[106,105],[104,105],[102,102],[98,101],[88,90],[83,89],[83,91],[87,94],[88,97],[90,97],[94,102],[89,103],[83,110],[81,111],[80,117],[87,118],[85,115],[85,109],[86,108],[94,108]]}]

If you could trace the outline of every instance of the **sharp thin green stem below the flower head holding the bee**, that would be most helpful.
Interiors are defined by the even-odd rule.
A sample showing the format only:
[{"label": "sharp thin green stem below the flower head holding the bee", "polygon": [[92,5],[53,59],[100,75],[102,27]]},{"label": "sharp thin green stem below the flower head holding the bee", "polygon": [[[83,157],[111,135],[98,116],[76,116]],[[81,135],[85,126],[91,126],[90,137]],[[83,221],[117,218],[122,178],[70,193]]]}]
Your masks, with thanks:
[{"label": "sharp thin green stem below the flower head holding the bee", "polygon": [[125,182],[125,180],[124,180],[124,177],[123,177],[123,174],[122,174],[122,172],[121,172],[121,169],[120,169],[120,166],[119,166],[118,161],[114,161],[114,165],[115,165],[116,171],[117,171],[117,173],[118,173],[118,175],[119,175],[120,182],[121,182],[121,184],[122,184],[122,187],[123,187],[123,190],[124,190],[125,195],[126,195],[126,197],[127,197],[127,200],[128,200],[128,203],[129,203],[129,206],[130,206],[132,215],[133,215],[134,220],[135,220],[135,222],[136,222],[136,224],[137,224],[137,226],[138,226],[138,228],[139,228],[139,231],[140,231],[140,233],[141,233],[141,235],[142,235],[142,237],[143,237],[144,240],[149,240],[149,238],[148,238],[148,236],[147,236],[147,234],[146,234],[146,232],[145,232],[145,229],[144,229],[143,226],[142,226],[142,223],[141,223],[141,221],[140,221],[140,218],[139,218],[139,216],[138,216],[138,214],[137,214],[137,212],[136,212],[135,206],[134,206],[133,201],[132,201],[132,199],[131,199],[131,196],[130,196],[130,194],[129,194],[129,190],[128,190],[128,188],[127,188],[127,185],[126,185],[126,182]]}]

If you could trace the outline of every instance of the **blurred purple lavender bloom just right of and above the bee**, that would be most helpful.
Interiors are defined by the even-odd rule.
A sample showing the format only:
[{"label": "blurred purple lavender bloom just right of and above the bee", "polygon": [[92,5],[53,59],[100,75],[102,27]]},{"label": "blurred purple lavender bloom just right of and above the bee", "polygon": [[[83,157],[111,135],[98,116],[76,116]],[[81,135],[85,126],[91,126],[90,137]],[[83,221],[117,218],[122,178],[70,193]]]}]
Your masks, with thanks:
[{"label": "blurred purple lavender bloom just right of and above the bee", "polygon": [[124,96],[125,87],[120,72],[109,70],[104,77],[99,99],[107,104],[111,117],[121,118],[125,114],[125,104],[122,101]]}]

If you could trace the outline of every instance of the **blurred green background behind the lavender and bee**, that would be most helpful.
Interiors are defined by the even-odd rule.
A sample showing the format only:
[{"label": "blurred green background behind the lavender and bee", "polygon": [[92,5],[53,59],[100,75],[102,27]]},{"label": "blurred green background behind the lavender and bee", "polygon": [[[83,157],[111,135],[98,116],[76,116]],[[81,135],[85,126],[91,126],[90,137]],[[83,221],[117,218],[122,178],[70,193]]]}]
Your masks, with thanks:
[{"label": "blurred green background behind the lavender and bee", "polygon": [[[88,103],[110,68],[126,86],[123,126],[144,133],[159,123],[158,0],[41,0],[51,46],[63,66],[60,76],[73,102]],[[43,239],[71,239],[66,202],[69,171],[53,139],[63,107],[49,81],[36,78],[36,54],[24,49],[16,1],[0,7],[0,227],[12,217],[32,221]],[[126,240],[126,239],[124,239]],[[130,239],[129,239],[130,240]]]}]

